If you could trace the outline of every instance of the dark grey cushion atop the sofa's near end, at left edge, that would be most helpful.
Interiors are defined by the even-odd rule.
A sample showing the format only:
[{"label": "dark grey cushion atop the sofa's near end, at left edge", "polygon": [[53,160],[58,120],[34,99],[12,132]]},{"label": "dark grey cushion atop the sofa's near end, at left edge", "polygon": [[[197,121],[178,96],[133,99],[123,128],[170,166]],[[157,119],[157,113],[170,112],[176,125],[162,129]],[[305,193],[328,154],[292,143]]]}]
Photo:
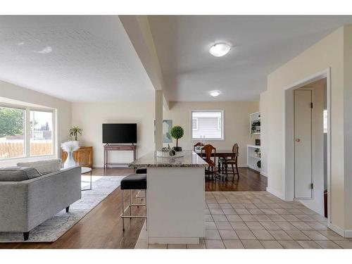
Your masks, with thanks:
[{"label": "dark grey cushion atop the sofa's near end, at left edge", "polygon": [[22,182],[39,176],[42,175],[31,167],[0,168],[0,182]]}]

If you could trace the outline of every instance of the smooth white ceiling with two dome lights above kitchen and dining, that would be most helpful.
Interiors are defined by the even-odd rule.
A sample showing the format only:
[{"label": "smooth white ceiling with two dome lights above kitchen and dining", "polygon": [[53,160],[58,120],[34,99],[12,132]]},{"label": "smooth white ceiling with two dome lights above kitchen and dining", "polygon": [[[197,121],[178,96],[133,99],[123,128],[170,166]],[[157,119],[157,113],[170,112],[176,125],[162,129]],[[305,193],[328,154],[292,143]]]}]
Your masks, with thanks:
[{"label": "smooth white ceiling with two dome lights above kitchen and dining", "polygon": [[[352,16],[153,15],[149,23],[170,101],[256,101],[269,73]],[[211,56],[215,42],[232,51]]]}]

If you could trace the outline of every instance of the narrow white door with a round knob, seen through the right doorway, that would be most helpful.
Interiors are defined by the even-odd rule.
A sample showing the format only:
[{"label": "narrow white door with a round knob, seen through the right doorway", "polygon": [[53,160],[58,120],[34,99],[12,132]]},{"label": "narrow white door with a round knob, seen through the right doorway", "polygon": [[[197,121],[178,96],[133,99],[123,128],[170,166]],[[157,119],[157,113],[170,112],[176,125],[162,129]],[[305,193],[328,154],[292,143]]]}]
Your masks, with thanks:
[{"label": "narrow white door with a round knob, seen through the right doorway", "polygon": [[294,91],[294,196],[312,198],[312,91]]}]

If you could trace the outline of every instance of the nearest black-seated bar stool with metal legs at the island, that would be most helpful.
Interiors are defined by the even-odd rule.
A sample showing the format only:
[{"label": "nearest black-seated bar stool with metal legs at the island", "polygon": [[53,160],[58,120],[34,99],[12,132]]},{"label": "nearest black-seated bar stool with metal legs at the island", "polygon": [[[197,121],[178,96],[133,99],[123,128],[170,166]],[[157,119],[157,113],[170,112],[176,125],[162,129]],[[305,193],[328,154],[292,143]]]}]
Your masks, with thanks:
[{"label": "nearest black-seated bar stool with metal legs at the island", "polygon": [[[146,215],[132,215],[132,206],[146,206],[145,203],[132,203],[132,190],[145,190],[146,193],[146,175],[131,174],[121,180],[122,192],[122,230],[125,231],[125,218],[146,218]],[[125,190],[130,190],[130,205],[125,208]],[[145,194],[146,199],[146,194]],[[130,209],[130,215],[125,215],[125,211]]]}]

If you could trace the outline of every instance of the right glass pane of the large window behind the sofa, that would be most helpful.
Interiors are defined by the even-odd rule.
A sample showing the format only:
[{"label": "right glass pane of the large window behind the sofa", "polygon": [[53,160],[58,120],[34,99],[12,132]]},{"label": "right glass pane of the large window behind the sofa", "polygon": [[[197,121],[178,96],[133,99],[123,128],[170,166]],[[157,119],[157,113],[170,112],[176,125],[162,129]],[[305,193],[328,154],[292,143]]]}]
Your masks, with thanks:
[{"label": "right glass pane of the large window behind the sofa", "polygon": [[30,111],[30,156],[53,153],[53,113]]}]

